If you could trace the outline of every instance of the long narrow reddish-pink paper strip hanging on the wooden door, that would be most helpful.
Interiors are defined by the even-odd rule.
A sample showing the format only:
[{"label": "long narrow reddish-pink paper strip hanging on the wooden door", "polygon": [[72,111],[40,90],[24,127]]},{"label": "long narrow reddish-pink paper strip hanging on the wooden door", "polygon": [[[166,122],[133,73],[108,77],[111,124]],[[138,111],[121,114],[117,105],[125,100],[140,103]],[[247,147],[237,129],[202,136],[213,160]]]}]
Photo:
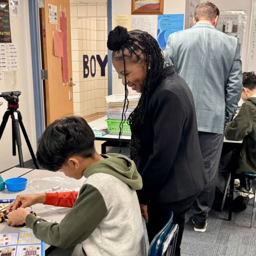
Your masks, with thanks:
[{"label": "long narrow reddish-pink paper strip hanging on the wooden door", "polygon": [[68,84],[68,38],[67,38],[67,18],[64,12],[61,12],[60,30],[63,36],[63,57],[62,57],[62,83]]}]

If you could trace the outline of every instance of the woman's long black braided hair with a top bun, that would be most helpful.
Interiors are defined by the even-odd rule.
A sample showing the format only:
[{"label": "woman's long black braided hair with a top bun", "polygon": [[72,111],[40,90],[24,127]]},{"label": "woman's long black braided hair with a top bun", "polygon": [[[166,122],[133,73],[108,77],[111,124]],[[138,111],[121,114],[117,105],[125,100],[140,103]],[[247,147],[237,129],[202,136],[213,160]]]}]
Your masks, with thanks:
[{"label": "woman's long black braided hair with a top bun", "polygon": [[136,160],[140,155],[140,140],[138,135],[144,126],[148,102],[159,84],[164,69],[164,57],[156,39],[142,30],[127,31],[122,26],[117,26],[108,34],[107,46],[113,51],[116,60],[122,60],[124,64],[124,88],[125,99],[122,112],[122,122],[120,124],[119,139],[122,135],[123,121],[126,121],[126,110],[128,108],[128,89],[126,79],[126,60],[134,64],[138,63],[142,57],[146,62],[146,78],[138,106],[128,117],[128,124],[132,131],[130,142],[131,155]]}]

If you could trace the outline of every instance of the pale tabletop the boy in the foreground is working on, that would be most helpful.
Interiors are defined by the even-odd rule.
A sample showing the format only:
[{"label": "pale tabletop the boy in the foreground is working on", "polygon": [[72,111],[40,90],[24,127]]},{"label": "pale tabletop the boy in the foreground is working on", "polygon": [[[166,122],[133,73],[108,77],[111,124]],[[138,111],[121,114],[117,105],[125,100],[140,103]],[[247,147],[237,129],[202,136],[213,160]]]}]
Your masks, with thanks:
[{"label": "pale tabletop the boy in the foreground is working on", "polygon": [[[36,170],[36,169],[26,169],[26,168],[12,168],[10,170],[7,170],[6,172],[3,172],[1,174],[2,178],[6,180],[7,178],[13,178],[13,177],[24,177],[28,179],[28,182],[30,180],[36,179],[36,178],[42,178],[45,176],[52,176],[52,177],[65,177],[65,174],[63,172],[50,172],[47,170]],[[85,178],[81,178],[80,180],[75,180],[73,178],[68,178],[70,179],[70,182],[76,183],[79,186],[82,185],[84,182]],[[58,191],[58,190],[56,190]],[[55,192],[56,192],[55,191]],[[26,188],[23,191],[20,192],[10,192],[7,189],[0,191],[0,199],[14,199],[18,194],[32,194],[34,191],[32,191],[30,188]],[[54,211],[54,207],[51,206],[46,206],[44,204],[35,204],[32,206],[32,210],[36,212],[37,216],[40,216],[42,218],[50,218],[52,220],[56,220],[56,222],[60,223],[60,221],[64,218],[66,213],[70,210],[69,208],[62,208],[60,209],[60,212]],[[29,208],[30,210],[30,208]],[[26,226],[22,227],[11,227],[8,226],[6,223],[0,224],[0,233],[4,232],[17,232],[22,231],[22,230],[30,230],[30,228],[27,228]],[[48,249],[50,245],[45,244],[45,250]]]}]

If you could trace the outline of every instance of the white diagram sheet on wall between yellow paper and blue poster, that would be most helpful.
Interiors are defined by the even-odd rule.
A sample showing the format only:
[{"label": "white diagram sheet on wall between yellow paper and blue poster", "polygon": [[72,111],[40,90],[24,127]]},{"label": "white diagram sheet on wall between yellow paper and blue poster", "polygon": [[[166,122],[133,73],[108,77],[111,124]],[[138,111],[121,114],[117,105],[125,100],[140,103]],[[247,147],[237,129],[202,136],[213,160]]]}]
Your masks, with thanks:
[{"label": "white diagram sheet on wall between yellow paper and blue poster", "polygon": [[132,15],[132,30],[140,29],[157,37],[157,15]]}]

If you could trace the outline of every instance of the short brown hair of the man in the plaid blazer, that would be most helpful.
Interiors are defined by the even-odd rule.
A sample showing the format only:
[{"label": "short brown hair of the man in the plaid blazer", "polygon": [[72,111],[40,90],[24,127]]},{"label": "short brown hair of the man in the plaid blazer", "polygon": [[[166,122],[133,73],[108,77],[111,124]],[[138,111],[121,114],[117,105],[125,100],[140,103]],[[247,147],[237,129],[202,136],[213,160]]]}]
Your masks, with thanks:
[{"label": "short brown hair of the man in the plaid blazer", "polygon": [[194,17],[196,22],[198,22],[200,20],[213,20],[219,15],[220,11],[215,4],[212,2],[204,2],[196,6]]}]

